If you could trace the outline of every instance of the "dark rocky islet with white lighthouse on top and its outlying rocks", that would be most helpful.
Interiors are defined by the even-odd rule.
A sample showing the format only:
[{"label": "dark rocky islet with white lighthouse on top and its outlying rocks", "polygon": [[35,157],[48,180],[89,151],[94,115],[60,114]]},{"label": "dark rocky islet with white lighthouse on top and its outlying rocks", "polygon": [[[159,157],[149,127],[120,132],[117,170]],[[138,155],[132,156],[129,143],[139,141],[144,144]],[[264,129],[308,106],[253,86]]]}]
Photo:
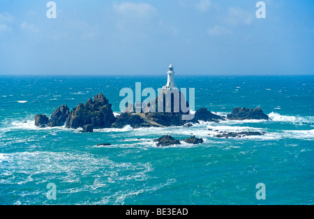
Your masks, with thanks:
[{"label": "dark rocky islet with white lighthouse on top and its outlying rocks", "polygon": [[[138,104],[135,103],[135,105]],[[199,123],[200,121],[269,120],[269,116],[264,114],[260,107],[256,109],[235,107],[231,114],[227,114],[227,117],[214,114],[205,107],[198,109],[195,114],[191,114],[186,97],[175,85],[172,65],[170,65],[170,70],[168,71],[167,84],[163,86],[157,98],[151,100],[149,103],[140,103],[140,109],[137,109],[135,105],[128,103],[124,112],[115,117],[109,100],[103,93],[99,93],[94,96],[94,100],[89,98],[86,103],[79,103],[72,110],[67,105],[57,107],[52,112],[50,119],[44,114],[36,114],[34,118],[35,125],[39,128],[57,126],[74,129],[82,128],[83,133],[93,133],[96,128],[124,128],[125,126],[131,126],[132,128],[190,127],[193,126],[193,123]],[[242,137],[248,135],[263,135],[263,133],[220,133],[214,135],[214,137]],[[195,136],[183,140],[190,144],[200,144],[203,142],[202,139],[197,139]],[[156,139],[156,142],[158,142],[157,146],[180,144],[180,141],[178,141],[167,135]]]}]

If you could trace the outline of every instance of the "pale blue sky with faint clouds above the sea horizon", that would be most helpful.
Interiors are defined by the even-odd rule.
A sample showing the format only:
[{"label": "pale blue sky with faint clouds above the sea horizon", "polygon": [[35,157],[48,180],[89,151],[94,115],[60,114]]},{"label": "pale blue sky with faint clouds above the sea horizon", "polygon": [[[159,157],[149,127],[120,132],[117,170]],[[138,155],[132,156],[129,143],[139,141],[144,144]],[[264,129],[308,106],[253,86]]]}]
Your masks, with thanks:
[{"label": "pale blue sky with faint clouds above the sea horizon", "polygon": [[0,75],[313,75],[314,1],[0,0]]}]

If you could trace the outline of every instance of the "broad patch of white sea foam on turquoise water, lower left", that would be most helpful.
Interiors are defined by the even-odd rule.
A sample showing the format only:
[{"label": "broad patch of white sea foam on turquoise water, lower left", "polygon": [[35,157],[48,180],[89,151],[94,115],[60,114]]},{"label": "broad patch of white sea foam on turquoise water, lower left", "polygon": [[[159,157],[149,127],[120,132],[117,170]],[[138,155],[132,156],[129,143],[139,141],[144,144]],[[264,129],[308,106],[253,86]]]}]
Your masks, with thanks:
[{"label": "broad patch of white sea foam on turquoise water, lower left", "polygon": [[[151,163],[114,162],[107,157],[97,157],[89,153],[68,152],[0,153],[0,163],[5,169],[0,173],[0,177],[9,176],[1,180],[0,184],[19,185],[29,183],[34,178],[38,179],[37,176],[42,174],[49,174],[52,176],[51,180],[62,176],[66,182],[77,182],[81,177],[94,176],[95,172],[101,174],[99,177],[105,177],[107,183],[108,181],[142,181],[148,179],[147,173],[154,170]],[[22,175],[17,181],[15,176],[18,174]],[[46,179],[41,180],[36,183],[46,182]]]}]

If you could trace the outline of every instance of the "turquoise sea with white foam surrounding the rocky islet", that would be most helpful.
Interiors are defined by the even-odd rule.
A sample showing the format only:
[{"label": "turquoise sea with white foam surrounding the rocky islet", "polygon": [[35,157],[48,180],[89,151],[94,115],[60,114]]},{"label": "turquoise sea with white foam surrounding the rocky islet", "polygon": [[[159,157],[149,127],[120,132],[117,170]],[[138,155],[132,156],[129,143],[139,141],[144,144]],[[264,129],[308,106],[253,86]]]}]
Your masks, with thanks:
[{"label": "turquoise sea with white foam surrounding the rocky islet", "polygon": [[[262,107],[272,120],[39,129],[35,114],[50,116],[100,92],[119,114],[122,88],[158,89],[166,77],[1,76],[0,204],[313,204],[314,76],[176,77],[180,88],[195,88],[196,110]],[[209,128],[267,134],[217,139]],[[156,147],[152,140],[165,134],[196,135],[204,144]],[[55,200],[46,197],[48,183],[57,186]],[[266,200],[256,199],[257,183],[265,184]]]}]

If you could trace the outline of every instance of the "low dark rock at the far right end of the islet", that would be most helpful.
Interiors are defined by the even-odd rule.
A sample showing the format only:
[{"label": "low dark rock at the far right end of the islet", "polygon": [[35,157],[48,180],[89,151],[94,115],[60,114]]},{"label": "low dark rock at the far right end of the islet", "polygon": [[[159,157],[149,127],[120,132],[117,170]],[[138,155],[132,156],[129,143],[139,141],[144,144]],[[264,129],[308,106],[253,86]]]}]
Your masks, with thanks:
[{"label": "low dark rock at the far right end of the islet", "polygon": [[232,110],[231,114],[227,114],[227,119],[230,120],[244,120],[244,119],[266,119],[269,120],[269,116],[262,112],[260,107],[256,109],[246,109],[245,107],[236,107]]}]

